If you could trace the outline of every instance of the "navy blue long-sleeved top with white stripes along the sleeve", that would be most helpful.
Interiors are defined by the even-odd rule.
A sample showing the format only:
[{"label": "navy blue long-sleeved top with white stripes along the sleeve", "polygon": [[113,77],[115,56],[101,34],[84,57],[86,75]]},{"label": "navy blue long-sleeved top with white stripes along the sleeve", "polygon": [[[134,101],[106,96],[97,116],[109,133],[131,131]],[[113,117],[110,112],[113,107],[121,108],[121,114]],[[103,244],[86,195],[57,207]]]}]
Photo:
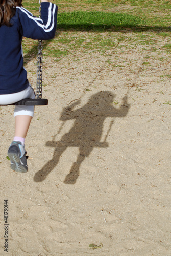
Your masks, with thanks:
[{"label": "navy blue long-sleeved top with white stripes along the sleeve", "polygon": [[48,40],[55,36],[57,26],[55,4],[41,3],[41,18],[34,17],[23,7],[16,7],[11,27],[0,26],[0,94],[11,94],[29,86],[23,68],[22,37]]}]

